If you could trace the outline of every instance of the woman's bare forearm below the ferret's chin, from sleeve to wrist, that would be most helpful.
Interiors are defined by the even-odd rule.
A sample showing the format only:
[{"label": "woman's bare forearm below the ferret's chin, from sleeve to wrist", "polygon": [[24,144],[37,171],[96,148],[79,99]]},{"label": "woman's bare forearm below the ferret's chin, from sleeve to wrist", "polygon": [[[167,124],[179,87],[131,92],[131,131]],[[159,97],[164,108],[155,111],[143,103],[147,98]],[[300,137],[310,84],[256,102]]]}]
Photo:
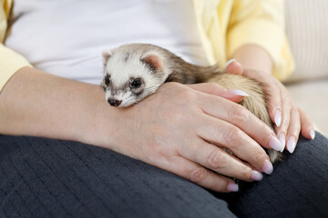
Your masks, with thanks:
[{"label": "woman's bare forearm below the ferret's chin, from sleeve to wrist", "polygon": [[97,85],[24,67],[0,94],[0,134],[90,141],[86,135],[96,131],[105,107],[111,110]]}]

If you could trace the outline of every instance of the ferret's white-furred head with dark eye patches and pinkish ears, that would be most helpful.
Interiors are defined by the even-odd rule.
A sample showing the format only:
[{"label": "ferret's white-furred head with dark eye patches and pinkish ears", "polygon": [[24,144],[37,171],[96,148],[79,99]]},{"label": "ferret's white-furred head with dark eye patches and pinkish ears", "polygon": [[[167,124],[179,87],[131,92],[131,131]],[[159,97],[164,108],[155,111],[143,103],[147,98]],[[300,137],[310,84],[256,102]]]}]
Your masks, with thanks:
[{"label": "ferret's white-furred head with dark eye patches and pinkish ears", "polygon": [[123,45],[103,52],[102,88],[108,104],[127,107],[156,92],[168,76],[160,52]]}]

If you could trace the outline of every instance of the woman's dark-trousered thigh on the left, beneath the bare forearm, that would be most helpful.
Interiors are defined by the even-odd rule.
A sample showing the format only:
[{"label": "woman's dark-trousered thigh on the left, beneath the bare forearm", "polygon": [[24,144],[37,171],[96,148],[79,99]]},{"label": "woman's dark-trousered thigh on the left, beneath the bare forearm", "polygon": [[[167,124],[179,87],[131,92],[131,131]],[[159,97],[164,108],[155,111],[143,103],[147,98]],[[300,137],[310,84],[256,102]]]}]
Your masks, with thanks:
[{"label": "woman's dark-trousered thigh on the left, beneath the bare forearm", "polygon": [[0,155],[1,217],[234,217],[198,185],[95,146],[0,136]]}]

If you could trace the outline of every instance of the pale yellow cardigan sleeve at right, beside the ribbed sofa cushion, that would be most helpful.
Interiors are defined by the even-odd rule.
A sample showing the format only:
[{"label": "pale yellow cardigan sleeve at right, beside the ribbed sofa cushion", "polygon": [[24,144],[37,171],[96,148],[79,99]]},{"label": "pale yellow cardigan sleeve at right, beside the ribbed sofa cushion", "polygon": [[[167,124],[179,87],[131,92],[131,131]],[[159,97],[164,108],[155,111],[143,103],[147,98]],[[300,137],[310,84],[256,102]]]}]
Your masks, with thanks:
[{"label": "pale yellow cardigan sleeve at right, beside the ribbed sofa cushion", "polygon": [[284,33],[283,0],[234,0],[227,30],[227,55],[242,45],[261,46],[273,61],[272,74],[283,80],[294,68]]}]

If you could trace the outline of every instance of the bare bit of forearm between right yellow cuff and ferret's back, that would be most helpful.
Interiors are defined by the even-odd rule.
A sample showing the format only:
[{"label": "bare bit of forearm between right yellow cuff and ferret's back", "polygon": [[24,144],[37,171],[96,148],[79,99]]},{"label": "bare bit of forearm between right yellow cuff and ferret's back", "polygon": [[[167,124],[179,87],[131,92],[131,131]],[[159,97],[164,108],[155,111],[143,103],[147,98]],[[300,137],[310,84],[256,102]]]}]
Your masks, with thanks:
[{"label": "bare bit of forearm between right yellow cuff and ferret's back", "polygon": [[265,74],[272,74],[272,58],[261,47],[256,45],[241,46],[232,56],[245,69],[256,70]]}]

